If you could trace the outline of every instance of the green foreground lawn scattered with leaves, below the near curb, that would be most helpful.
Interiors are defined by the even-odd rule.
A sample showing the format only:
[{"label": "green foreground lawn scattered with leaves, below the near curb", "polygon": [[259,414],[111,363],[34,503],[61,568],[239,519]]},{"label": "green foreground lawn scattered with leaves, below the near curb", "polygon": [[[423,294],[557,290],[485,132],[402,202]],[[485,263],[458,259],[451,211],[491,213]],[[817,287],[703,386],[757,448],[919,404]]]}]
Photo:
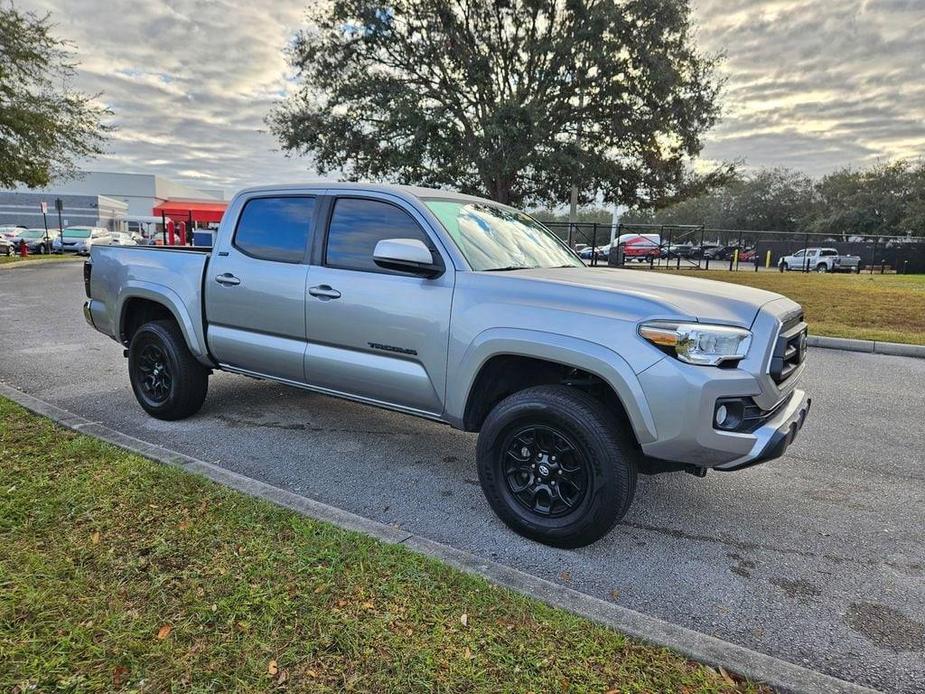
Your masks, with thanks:
[{"label": "green foreground lawn scattered with leaves, below the near curb", "polygon": [[3,692],[761,691],[4,399],[0,663]]}]

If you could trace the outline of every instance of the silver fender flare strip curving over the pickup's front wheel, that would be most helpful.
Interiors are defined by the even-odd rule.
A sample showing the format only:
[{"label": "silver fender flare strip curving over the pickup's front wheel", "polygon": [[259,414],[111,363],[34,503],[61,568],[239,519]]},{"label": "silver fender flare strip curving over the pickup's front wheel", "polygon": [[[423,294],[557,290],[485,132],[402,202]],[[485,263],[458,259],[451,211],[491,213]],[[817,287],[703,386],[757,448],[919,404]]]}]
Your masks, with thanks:
[{"label": "silver fender flare strip curving over the pickup's front wheel", "polygon": [[620,398],[639,443],[657,439],[655,419],[642,385],[623,357],[581,338],[521,328],[489,328],[470,343],[448,374],[446,416],[451,422],[462,425],[479,372],[489,359],[502,355],[543,359],[594,374]]}]

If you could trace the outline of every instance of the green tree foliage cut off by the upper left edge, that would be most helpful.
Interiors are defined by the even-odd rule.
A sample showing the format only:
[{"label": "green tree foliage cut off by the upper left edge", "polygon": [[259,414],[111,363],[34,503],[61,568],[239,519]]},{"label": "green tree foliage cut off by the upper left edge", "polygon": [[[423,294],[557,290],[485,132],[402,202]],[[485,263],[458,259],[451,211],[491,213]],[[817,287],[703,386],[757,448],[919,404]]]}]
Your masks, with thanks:
[{"label": "green tree foliage cut off by the upper left edge", "polygon": [[49,15],[0,7],[0,186],[30,188],[76,172],[103,152],[109,111],[67,86],[70,44],[52,35]]}]

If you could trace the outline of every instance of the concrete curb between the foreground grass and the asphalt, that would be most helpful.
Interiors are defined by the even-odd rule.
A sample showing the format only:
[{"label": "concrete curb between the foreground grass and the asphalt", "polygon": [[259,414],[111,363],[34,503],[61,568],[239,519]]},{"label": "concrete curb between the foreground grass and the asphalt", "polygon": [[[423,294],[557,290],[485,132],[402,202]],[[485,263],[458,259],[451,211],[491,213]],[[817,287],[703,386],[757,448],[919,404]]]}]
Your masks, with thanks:
[{"label": "concrete curb between the foreground grass and the asphalt", "polygon": [[620,605],[591,597],[509,566],[419,537],[400,528],[379,523],[299,494],[239,475],[218,465],[142,441],[0,383],[0,395],[62,426],[112,443],[159,463],[200,474],[214,482],[250,496],[265,499],[304,516],[332,523],[346,530],[370,535],[389,544],[403,544],[411,551],[439,559],[461,571],[481,576],[523,595],[540,600],[611,627],[633,638],[671,649],[692,660],[723,667],[780,692],[805,694],[870,694],[874,689],[824,675],[757,651],[737,646],[692,629],[671,624]]}]

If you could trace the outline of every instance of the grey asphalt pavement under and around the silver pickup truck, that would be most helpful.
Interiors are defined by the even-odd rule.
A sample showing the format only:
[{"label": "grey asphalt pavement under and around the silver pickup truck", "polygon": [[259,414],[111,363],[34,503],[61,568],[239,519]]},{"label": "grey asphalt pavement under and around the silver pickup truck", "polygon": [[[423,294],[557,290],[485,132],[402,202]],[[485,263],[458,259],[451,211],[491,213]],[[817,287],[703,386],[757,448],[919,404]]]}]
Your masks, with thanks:
[{"label": "grey asphalt pavement under and around the silver pickup truck", "polygon": [[661,619],[885,691],[925,691],[925,360],[814,350],[788,455],[641,478],[577,551],[524,540],[476,479],[475,436],[240,376],[196,417],[147,417],[91,330],[80,263],[0,269],[0,380],[137,438]]}]

